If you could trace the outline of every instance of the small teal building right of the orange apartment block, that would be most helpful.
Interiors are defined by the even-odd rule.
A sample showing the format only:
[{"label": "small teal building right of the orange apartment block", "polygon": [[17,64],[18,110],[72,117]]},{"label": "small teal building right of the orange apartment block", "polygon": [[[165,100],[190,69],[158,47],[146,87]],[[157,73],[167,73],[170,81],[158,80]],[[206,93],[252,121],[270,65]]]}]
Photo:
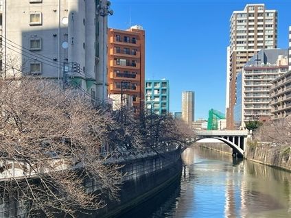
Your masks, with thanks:
[{"label": "small teal building right of the orange apartment block", "polygon": [[170,112],[169,80],[146,80],[146,110],[156,114]]}]

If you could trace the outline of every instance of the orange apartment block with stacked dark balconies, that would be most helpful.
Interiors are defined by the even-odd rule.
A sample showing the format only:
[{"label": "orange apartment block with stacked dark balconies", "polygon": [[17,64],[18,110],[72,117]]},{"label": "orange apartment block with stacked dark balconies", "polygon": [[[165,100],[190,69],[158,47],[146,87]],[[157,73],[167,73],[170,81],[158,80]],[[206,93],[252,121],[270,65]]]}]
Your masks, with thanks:
[{"label": "orange apartment block with stacked dark balconies", "polygon": [[108,94],[131,95],[139,113],[144,107],[145,31],[108,29]]}]

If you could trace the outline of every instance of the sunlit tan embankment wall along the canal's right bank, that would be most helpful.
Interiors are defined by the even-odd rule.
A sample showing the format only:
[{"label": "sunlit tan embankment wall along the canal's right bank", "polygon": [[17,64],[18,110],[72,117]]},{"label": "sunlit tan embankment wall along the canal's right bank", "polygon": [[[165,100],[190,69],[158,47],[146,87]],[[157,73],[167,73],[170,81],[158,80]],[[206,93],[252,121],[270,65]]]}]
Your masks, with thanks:
[{"label": "sunlit tan embankment wall along the canal's right bank", "polygon": [[[232,154],[232,149],[222,143],[200,143],[200,147],[213,149],[217,152]],[[279,167],[291,171],[291,148],[290,146],[272,147],[270,145],[257,145],[249,143],[246,146],[245,156],[247,160],[259,162],[272,167]]]}]

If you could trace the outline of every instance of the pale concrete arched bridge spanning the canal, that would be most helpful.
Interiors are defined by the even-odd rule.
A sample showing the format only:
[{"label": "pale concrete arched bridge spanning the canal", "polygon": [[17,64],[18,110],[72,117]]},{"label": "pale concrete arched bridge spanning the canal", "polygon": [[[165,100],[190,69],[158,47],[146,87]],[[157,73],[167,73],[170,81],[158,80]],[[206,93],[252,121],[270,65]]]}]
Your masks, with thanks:
[{"label": "pale concrete arched bridge spanning the canal", "polygon": [[248,130],[197,130],[194,142],[207,142],[205,139],[214,138],[212,142],[223,142],[233,149],[233,156],[244,157]]}]

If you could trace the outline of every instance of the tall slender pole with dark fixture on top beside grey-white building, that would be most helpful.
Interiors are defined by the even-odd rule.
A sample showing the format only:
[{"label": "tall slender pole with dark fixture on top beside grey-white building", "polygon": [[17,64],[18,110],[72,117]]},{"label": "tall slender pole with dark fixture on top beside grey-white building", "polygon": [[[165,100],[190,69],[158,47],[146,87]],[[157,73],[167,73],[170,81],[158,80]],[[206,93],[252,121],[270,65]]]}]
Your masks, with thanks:
[{"label": "tall slender pole with dark fixture on top beside grey-white building", "polygon": [[113,15],[113,10],[110,10],[110,1],[103,0],[97,5],[97,12],[102,16],[102,100],[107,98],[106,81],[107,81],[107,23],[106,16]]}]

